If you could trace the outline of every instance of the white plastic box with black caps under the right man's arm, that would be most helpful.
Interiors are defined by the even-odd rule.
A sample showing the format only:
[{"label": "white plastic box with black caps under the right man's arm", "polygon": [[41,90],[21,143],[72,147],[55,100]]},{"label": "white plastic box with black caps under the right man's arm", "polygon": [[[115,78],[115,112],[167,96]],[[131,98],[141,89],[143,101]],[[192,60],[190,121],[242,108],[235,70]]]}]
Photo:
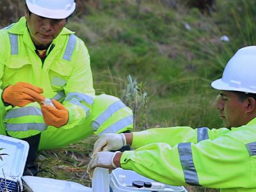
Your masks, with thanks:
[{"label": "white plastic box with black caps under the right man's arm", "polygon": [[[125,184],[120,183],[119,175],[125,175]],[[132,186],[132,182],[135,180],[141,180],[143,182],[150,182],[154,188],[135,188]],[[136,172],[131,170],[123,170],[122,168],[116,168],[109,175],[109,184],[113,190],[113,192],[150,192],[150,191],[175,191],[175,192],[188,192],[183,186],[170,186],[168,184],[163,184],[161,182],[156,182],[155,180],[148,179],[147,177],[143,177]],[[157,188],[157,189],[156,189]]]}]

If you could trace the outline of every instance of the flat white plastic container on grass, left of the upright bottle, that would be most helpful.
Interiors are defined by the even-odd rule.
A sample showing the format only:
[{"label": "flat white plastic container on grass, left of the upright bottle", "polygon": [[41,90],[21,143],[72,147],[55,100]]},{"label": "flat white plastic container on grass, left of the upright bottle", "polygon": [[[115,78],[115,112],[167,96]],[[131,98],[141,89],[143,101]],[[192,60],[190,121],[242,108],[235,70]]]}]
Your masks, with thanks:
[{"label": "flat white plastic container on grass, left of the upright bottle", "polygon": [[92,188],[67,180],[23,176],[22,182],[26,192],[92,192]]}]

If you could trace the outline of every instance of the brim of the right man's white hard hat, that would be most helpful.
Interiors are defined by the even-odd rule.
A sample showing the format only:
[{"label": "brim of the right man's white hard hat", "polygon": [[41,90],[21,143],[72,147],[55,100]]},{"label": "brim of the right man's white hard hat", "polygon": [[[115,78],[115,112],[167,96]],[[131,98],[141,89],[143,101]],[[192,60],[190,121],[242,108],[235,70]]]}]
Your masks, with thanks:
[{"label": "brim of the right man's white hard hat", "polygon": [[211,86],[216,90],[256,93],[256,90],[251,90],[249,88],[230,86],[230,84],[223,82],[222,79],[212,81]]}]

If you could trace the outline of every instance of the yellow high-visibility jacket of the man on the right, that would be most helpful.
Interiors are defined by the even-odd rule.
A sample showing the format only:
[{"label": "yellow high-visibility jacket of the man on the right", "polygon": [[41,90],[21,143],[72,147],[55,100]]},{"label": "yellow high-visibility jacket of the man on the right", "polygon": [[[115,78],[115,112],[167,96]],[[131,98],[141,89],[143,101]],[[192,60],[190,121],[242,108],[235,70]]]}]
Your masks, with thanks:
[{"label": "yellow high-visibility jacket of the man on the right", "polygon": [[124,169],[176,186],[256,191],[256,118],[232,129],[169,127],[132,132]]}]

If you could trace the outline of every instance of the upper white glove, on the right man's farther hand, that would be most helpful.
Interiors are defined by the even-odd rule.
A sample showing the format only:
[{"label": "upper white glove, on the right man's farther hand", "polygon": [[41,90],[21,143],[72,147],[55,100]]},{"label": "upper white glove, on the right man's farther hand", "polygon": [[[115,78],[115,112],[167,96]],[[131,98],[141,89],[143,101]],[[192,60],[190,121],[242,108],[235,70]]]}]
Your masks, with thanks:
[{"label": "upper white glove, on the right man's farther hand", "polygon": [[126,144],[126,139],[124,133],[106,133],[99,138],[94,144],[92,157],[98,152],[118,150],[124,147]]}]

